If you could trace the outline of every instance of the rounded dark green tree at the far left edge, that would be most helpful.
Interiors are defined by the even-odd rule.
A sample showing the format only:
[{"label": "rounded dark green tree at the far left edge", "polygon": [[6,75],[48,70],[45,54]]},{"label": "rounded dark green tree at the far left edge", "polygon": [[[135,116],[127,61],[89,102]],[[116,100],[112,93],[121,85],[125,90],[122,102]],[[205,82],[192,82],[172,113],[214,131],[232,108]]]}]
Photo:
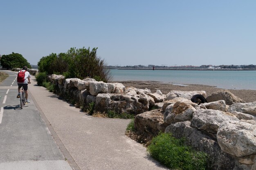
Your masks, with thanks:
[{"label": "rounded dark green tree at the far left edge", "polygon": [[27,59],[25,59],[21,54],[12,52],[8,55],[2,55],[1,65],[3,68],[11,69],[11,68],[22,68],[23,66],[27,66],[27,68],[31,68]]}]

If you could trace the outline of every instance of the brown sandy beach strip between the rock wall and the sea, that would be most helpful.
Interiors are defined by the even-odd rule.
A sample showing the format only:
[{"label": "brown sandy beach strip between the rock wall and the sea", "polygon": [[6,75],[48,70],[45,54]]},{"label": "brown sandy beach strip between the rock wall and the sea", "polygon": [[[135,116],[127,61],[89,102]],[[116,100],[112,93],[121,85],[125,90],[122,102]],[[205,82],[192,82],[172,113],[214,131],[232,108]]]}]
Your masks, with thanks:
[{"label": "brown sandy beach strip between the rock wall and the sea", "polygon": [[[114,82],[112,82],[114,83]],[[162,94],[167,94],[171,90],[180,91],[201,91],[204,90],[207,96],[213,94],[220,90],[214,86],[209,85],[173,85],[157,81],[115,81],[115,83],[122,83],[125,87],[135,87],[138,89],[150,89],[152,93],[160,90]],[[245,102],[256,101],[256,90],[238,90],[238,89],[228,89],[235,96],[245,100]]]}]

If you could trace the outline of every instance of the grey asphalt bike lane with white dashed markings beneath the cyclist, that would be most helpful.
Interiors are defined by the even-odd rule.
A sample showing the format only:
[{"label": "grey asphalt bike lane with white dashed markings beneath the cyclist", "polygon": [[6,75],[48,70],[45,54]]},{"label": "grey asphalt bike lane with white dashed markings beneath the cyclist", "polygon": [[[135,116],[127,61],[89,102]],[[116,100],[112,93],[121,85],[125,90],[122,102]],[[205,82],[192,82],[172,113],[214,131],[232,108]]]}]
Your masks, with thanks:
[{"label": "grey asphalt bike lane with white dashed markings beneath the cyclist", "polygon": [[72,169],[34,101],[20,109],[17,72],[6,72],[9,77],[0,84],[0,170]]}]

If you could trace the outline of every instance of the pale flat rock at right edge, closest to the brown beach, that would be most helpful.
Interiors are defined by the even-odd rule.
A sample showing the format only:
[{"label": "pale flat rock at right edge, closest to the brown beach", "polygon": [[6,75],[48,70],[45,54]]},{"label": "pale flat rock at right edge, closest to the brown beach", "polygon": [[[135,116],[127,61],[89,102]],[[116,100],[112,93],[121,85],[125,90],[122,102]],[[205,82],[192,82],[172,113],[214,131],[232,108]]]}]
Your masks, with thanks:
[{"label": "pale flat rock at right edge, closest to the brown beach", "polygon": [[251,114],[253,116],[256,116],[256,102],[235,103],[235,104],[229,106],[228,111],[229,112],[238,111],[238,112],[248,113],[248,114]]}]

